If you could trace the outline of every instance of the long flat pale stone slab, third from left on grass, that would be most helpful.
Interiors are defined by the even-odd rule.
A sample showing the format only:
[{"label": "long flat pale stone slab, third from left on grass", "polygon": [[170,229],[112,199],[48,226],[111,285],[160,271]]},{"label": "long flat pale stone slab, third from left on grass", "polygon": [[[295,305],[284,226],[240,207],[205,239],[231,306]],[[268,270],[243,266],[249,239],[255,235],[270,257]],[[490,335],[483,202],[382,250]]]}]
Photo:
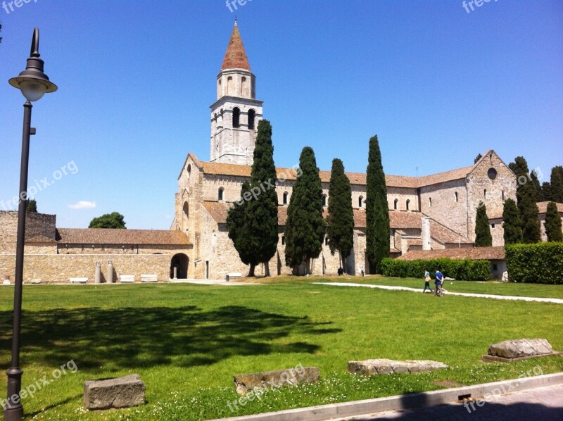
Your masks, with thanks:
[{"label": "long flat pale stone slab, third from left on grass", "polygon": [[348,372],[365,376],[393,375],[397,373],[415,374],[448,368],[448,365],[431,360],[375,360],[348,361]]}]

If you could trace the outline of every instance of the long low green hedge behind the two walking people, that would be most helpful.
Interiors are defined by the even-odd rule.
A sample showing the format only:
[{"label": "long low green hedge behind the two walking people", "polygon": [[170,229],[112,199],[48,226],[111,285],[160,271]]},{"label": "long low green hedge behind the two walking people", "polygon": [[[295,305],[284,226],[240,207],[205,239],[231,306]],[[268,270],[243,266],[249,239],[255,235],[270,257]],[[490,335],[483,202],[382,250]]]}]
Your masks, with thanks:
[{"label": "long low green hedge behind the two walking people", "polygon": [[[467,281],[488,281],[491,279],[491,263],[488,260],[469,259],[428,259],[397,260],[385,258],[381,262],[384,276],[423,277],[424,270],[434,272],[439,269],[445,277]],[[432,276],[434,279],[434,276]]]}]

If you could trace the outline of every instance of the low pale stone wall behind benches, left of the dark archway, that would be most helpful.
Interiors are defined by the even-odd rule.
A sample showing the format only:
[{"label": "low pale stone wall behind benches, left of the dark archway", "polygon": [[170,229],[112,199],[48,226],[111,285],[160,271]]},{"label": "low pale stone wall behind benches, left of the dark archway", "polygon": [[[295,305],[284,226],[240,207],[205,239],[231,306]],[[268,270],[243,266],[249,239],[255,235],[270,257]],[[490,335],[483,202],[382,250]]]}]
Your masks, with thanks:
[{"label": "low pale stone wall behind benches, left of the dark archway", "polygon": [[[38,254],[25,255],[23,282],[41,279],[42,283],[68,282],[70,277],[88,277],[94,283],[96,262],[101,263],[101,282],[106,282],[108,260],[113,262],[113,279],[118,275],[156,274],[158,281],[170,279],[170,256],[167,254]],[[0,274],[15,277],[15,254],[0,254]]]}]

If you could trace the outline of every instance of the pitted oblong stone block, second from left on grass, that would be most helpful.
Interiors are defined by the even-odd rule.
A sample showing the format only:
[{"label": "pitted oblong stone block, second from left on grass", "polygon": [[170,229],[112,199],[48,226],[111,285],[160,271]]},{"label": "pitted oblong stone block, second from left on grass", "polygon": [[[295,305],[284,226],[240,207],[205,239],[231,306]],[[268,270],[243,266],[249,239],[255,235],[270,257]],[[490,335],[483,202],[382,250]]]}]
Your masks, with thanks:
[{"label": "pitted oblong stone block, second from left on grass", "polygon": [[287,370],[255,372],[233,377],[236,393],[243,395],[254,389],[274,389],[282,386],[295,386],[301,383],[315,383],[320,378],[318,367],[296,365]]}]

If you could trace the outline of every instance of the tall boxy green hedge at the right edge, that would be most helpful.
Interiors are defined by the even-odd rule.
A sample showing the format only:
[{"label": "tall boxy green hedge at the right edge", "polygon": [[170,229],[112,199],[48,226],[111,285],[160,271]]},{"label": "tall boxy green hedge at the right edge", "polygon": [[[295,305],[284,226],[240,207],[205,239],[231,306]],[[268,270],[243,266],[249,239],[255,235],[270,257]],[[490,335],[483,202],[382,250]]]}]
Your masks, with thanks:
[{"label": "tall boxy green hedge at the right edge", "polygon": [[505,250],[511,281],[563,284],[563,243],[510,244]]}]

